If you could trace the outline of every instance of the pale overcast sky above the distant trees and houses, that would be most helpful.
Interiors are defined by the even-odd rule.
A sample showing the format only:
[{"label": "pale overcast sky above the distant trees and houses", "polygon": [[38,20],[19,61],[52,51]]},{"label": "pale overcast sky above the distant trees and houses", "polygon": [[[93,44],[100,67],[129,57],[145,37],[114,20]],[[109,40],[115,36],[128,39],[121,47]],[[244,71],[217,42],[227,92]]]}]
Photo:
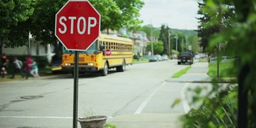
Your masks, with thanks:
[{"label": "pale overcast sky above the distant trees and houses", "polygon": [[160,27],[162,24],[170,28],[196,30],[198,26],[197,0],[143,0],[145,5],[140,10],[142,25]]}]

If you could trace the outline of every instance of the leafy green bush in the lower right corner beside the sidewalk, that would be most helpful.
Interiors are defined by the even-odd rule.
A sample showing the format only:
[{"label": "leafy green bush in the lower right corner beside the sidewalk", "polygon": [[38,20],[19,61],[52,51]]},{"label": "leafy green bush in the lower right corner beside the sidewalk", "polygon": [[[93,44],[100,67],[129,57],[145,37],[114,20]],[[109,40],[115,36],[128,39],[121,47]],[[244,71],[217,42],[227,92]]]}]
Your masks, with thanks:
[{"label": "leafy green bush in the lower right corner beside the sidewalk", "polygon": [[204,98],[202,106],[182,116],[183,127],[237,127],[238,87],[222,90],[214,98]]}]

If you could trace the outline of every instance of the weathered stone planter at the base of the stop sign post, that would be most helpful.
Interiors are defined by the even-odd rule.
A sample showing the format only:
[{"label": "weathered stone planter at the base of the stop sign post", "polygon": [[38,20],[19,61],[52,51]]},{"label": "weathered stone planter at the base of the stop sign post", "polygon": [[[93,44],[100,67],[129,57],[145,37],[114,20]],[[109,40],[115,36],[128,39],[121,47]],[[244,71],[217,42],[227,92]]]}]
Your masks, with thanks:
[{"label": "weathered stone planter at the base of the stop sign post", "polygon": [[82,128],[105,128],[107,117],[105,115],[78,118]]}]

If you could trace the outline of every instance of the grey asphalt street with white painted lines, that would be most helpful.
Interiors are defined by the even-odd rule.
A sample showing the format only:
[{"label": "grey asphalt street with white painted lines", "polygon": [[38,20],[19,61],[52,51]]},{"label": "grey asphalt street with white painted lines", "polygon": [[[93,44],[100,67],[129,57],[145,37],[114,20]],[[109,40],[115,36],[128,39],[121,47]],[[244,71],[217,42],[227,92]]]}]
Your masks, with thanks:
[{"label": "grey asphalt street with white painted lines", "polygon": [[[186,66],[189,65],[178,66],[177,60],[169,60],[126,66],[125,72],[110,70],[106,77],[99,74],[80,75],[78,117],[185,114],[192,107],[189,103],[193,95],[186,89],[210,86],[210,83],[169,81],[172,74]],[[74,78],[71,74],[1,82],[0,127],[72,127],[73,89]],[[171,108],[177,98],[182,102]]]}]

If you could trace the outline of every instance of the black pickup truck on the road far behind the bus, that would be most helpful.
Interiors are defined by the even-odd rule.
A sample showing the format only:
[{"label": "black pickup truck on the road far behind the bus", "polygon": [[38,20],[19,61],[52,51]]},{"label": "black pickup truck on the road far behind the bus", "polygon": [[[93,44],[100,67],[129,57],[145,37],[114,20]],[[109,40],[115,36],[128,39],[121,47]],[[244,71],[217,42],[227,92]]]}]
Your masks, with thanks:
[{"label": "black pickup truck on the road far behind the bus", "polygon": [[182,63],[188,63],[188,64],[193,64],[194,61],[194,55],[190,52],[181,52],[178,55],[178,65],[182,64]]}]

